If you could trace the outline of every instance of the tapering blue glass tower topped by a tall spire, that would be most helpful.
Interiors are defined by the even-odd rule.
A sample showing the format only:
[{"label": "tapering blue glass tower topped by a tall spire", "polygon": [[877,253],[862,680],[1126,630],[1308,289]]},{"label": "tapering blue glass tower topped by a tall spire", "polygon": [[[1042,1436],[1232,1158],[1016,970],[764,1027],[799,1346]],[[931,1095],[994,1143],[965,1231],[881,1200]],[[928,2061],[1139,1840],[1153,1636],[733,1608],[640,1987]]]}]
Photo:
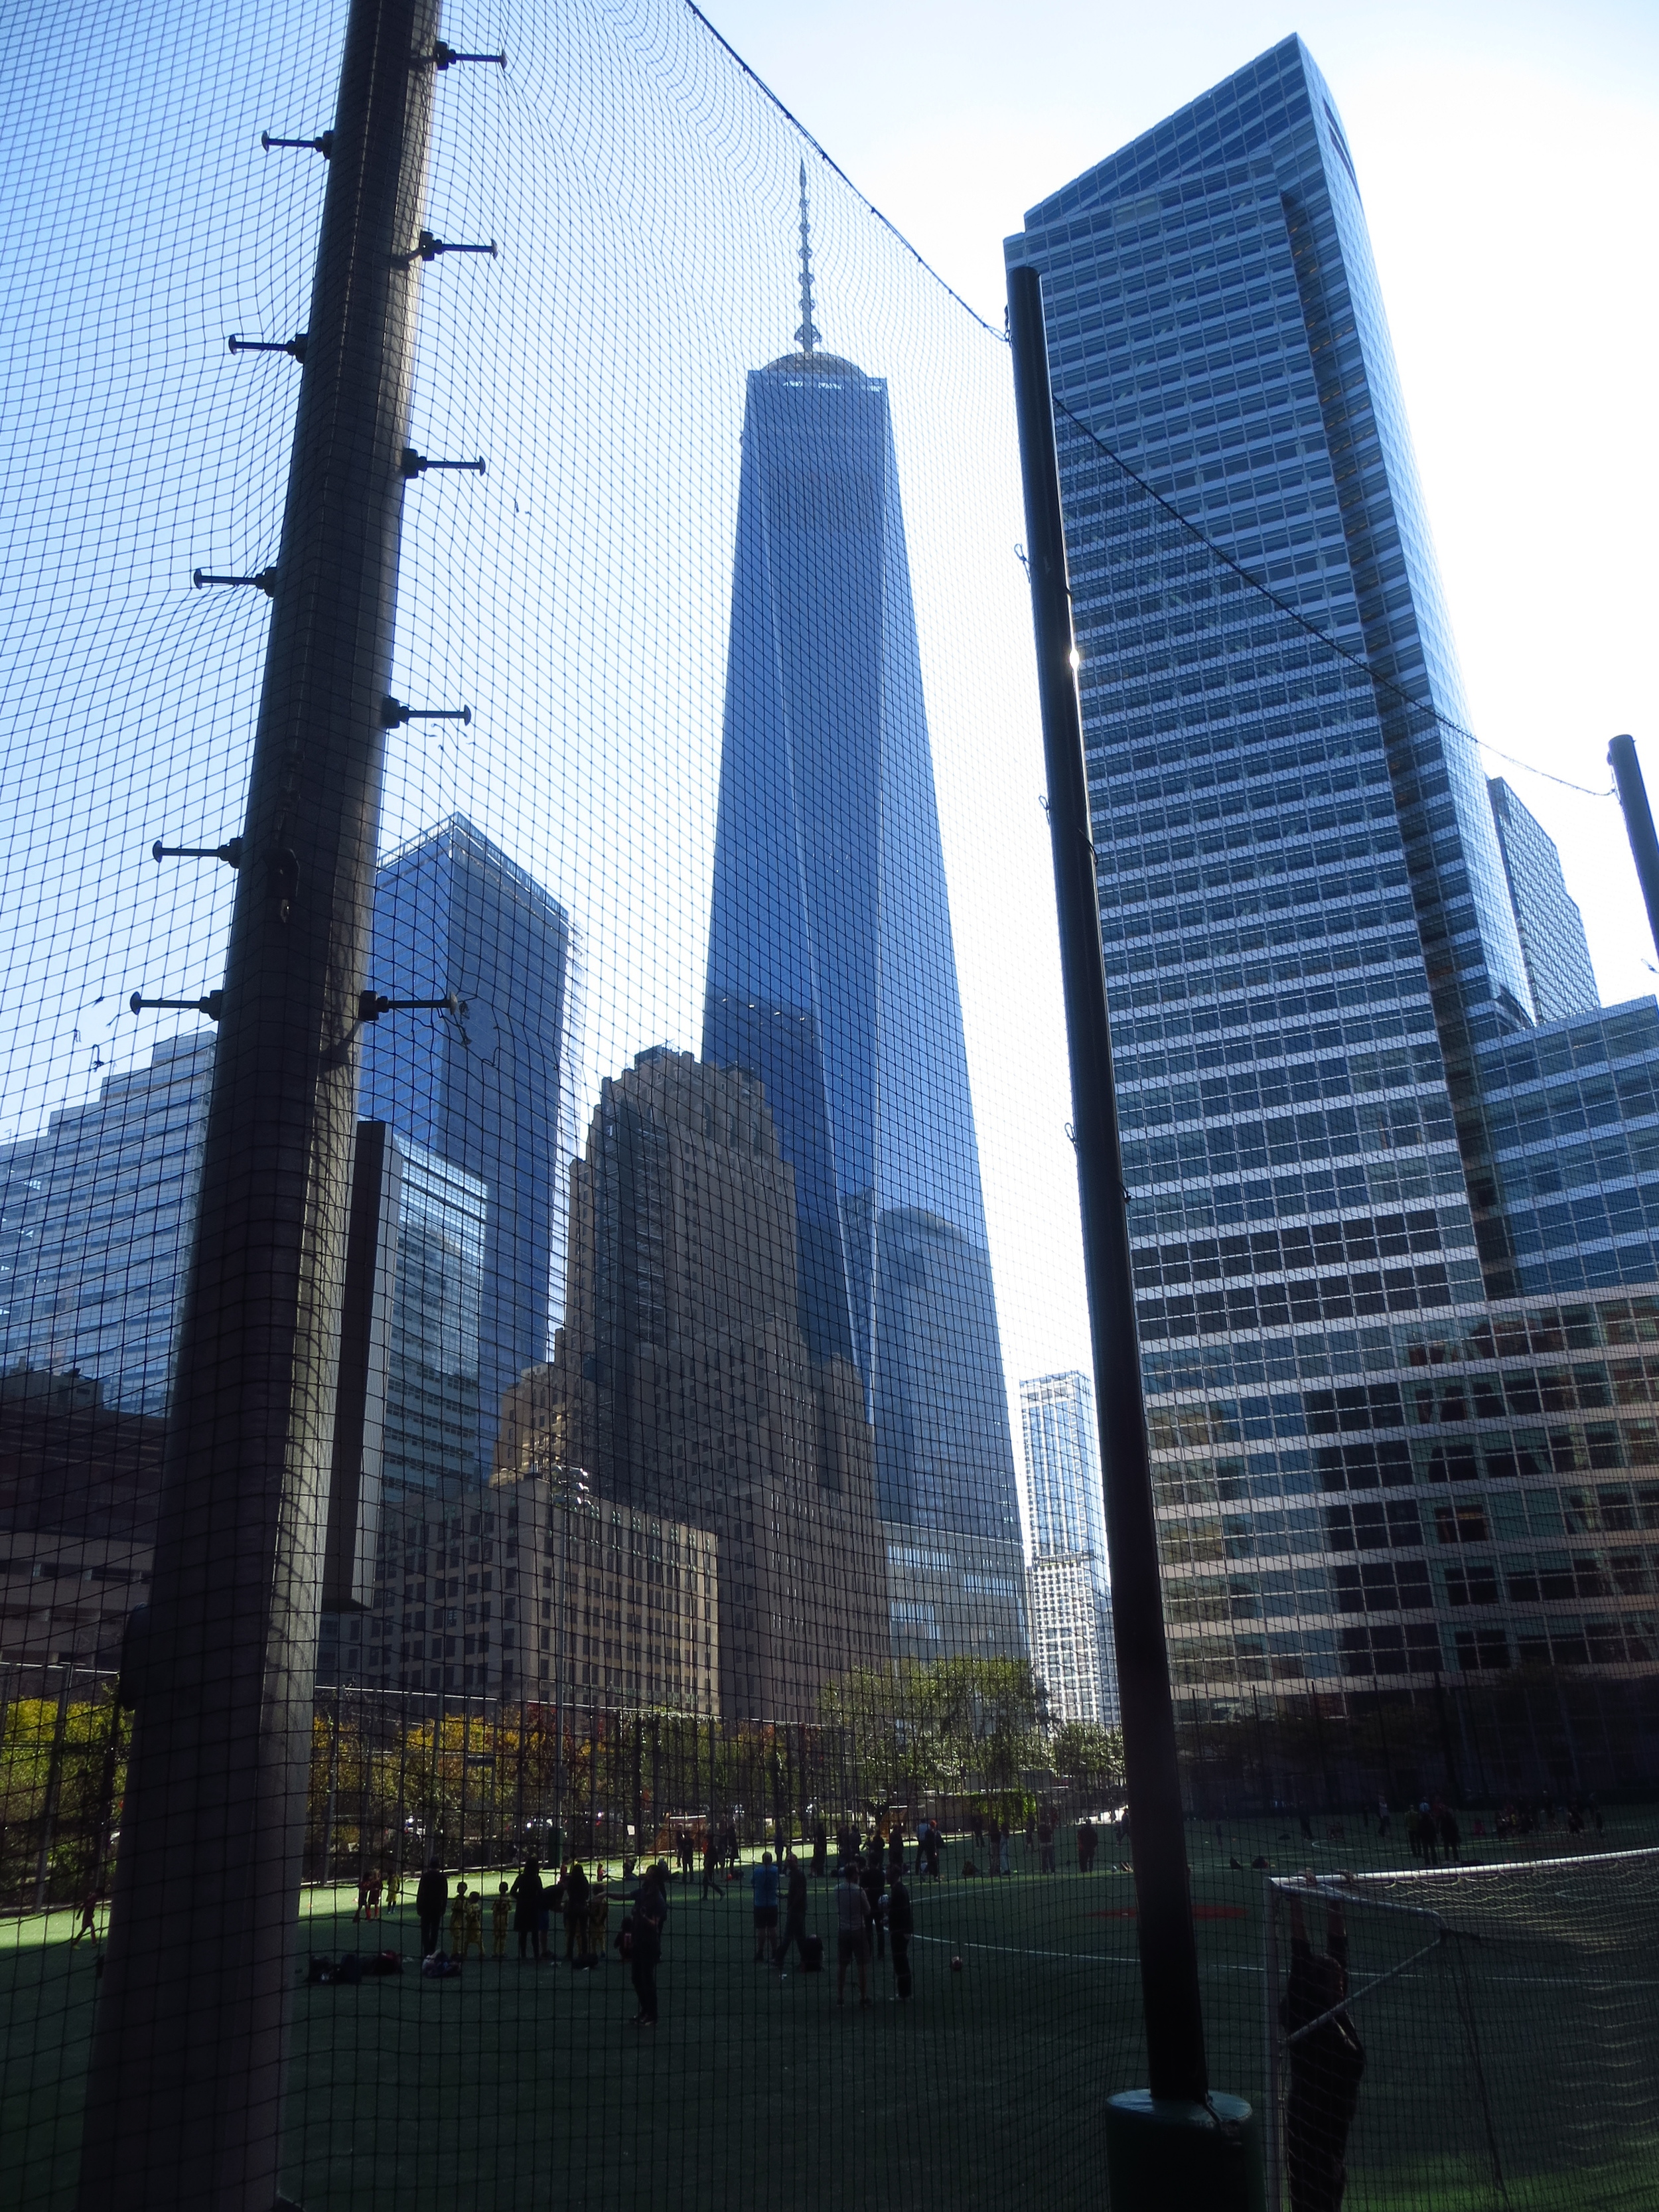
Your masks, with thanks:
[{"label": "tapering blue glass tower topped by a tall spire", "polygon": [[887,385],[818,347],[805,201],[801,316],[748,380],[703,1057],[761,1079],[794,1170],[801,1329],[863,1383],[896,1648],[960,1648],[949,1617],[1024,1650]]}]

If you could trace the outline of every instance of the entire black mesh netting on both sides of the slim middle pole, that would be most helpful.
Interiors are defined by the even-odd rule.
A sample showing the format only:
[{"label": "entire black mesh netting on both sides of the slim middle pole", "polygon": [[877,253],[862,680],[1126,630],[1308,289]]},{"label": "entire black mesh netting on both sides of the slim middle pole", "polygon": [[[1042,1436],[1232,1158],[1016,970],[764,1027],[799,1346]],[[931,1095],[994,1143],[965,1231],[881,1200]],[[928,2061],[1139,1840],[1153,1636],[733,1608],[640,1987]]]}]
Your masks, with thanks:
[{"label": "entire black mesh netting on both sides of the slim middle pole", "polygon": [[[9,66],[7,2201],[1099,2194],[1148,2053],[1002,332],[668,0],[31,4]],[[1398,1863],[1349,2201],[1637,2205],[1590,1792],[1659,1318],[1482,1290],[1475,1040],[1367,845],[1464,732],[1084,414],[1210,2075],[1283,2172],[1261,1876]],[[1352,927],[1245,889],[1245,754]],[[1267,1022],[1314,1073],[1219,1104]],[[1425,1900],[1340,1807],[1442,1792],[1500,1865]]]}]

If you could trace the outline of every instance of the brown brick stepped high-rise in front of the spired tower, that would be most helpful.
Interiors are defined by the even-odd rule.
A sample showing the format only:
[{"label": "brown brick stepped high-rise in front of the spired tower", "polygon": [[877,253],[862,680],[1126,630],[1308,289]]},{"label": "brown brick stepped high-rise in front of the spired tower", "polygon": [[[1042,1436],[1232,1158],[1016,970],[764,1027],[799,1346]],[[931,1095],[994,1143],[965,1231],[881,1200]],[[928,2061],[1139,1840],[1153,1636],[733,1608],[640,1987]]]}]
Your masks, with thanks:
[{"label": "brown brick stepped high-rise in front of the spired tower", "polygon": [[812,1719],[823,1681],[885,1659],[863,1383],[803,1334],[794,1170],[754,1077],[664,1048],[604,1084],[564,1327],[520,1396],[542,1409],[509,1407],[498,1455],[714,1533],[726,1719]]}]

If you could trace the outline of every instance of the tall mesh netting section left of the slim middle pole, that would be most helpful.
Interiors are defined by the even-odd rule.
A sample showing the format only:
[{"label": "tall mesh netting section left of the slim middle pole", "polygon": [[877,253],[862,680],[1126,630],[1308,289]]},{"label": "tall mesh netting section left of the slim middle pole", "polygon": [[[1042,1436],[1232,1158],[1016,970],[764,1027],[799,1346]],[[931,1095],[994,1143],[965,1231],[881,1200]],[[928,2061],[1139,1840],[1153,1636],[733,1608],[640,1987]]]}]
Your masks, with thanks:
[{"label": "tall mesh netting section left of the slim middle pole", "polygon": [[[1068,2197],[1139,2031],[1097,1495],[1042,1666],[1020,1520],[1022,1391],[1097,1478],[1009,361],[675,4],[405,11],[400,542],[305,617],[396,580],[356,971],[248,1186],[336,1305],[257,1522],[199,1285],[237,931],[336,865],[327,686],[257,737],[356,495],[345,13],[11,24],[7,2197],[86,2141],[139,2201],[150,2031],[305,2205]],[[241,1763],[261,1832],[157,1854]],[[226,1958],[281,1966],[234,2057]]]}]

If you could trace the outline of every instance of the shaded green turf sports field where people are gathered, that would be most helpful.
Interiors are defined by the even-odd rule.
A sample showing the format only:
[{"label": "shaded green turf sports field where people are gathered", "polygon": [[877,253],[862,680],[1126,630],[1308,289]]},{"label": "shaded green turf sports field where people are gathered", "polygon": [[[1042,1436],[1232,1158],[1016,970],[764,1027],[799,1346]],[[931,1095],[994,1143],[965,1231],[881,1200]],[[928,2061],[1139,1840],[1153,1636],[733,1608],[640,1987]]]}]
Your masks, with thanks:
[{"label": "shaded green turf sports field where people are gathered", "polygon": [[[1657,1825],[1617,1816],[1599,1845],[1646,1845]],[[1312,1854],[1283,1836],[1237,1823],[1217,1847],[1210,1825],[1190,1827],[1212,2081],[1252,2101],[1265,1986],[1263,1876],[1250,1860],[1285,1874],[1409,1865],[1352,1823]],[[1566,1851],[1555,1836],[1502,1854],[1471,1843],[1464,1856]],[[1144,2079],[1130,1876],[1104,1860],[1079,1876],[1062,1856],[1057,1876],[962,1880],[962,1858],[949,1845],[951,1878],[911,1880],[914,2000],[898,2004],[878,1964],[867,2011],[852,1978],[834,2006],[827,1882],[812,1885],[810,1907],[827,1971],[779,1982],[752,1964],[745,1880],[721,1900],[675,1880],[655,2033],[628,2024],[633,1986],[615,1951],[593,1973],[520,1966],[509,1936],[504,1962],[473,1955],[458,1980],[429,1982],[416,1973],[411,1905],[376,1933],[352,1927],[354,1889],[312,1891],[301,1960],[389,1944],[407,1971],[299,1991],[285,2190],[307,2212],[1099,2205],[1102,2099]],[[471,1880],[495,1887],[493,1871]],[[1557,1889],[1566,1898],[1566,1878]],[[1586,1893],[1579,1880],[1575,1896]],[[1358,2004],[1369,2066],[1349,2208],[1659,2205],[1659,2037],[1646,2026],[1659,2020],[1659,1898],[1624,1885],[1613,1951],[1606,1931],[1579,1940],[1575,1909],[1522,1942],[1471,1938],[1462,1980],[1442,1949]],[[1349,1918],[1356,1984],[1416,1947],[1416,1922],[1374,1940],[1363,1913]],[[617,1920],[613,1907],[613,1936]],[[69,1913],[4,1927],[7,2203],[73,2201],[95,1966],[71,1933]]]}]

